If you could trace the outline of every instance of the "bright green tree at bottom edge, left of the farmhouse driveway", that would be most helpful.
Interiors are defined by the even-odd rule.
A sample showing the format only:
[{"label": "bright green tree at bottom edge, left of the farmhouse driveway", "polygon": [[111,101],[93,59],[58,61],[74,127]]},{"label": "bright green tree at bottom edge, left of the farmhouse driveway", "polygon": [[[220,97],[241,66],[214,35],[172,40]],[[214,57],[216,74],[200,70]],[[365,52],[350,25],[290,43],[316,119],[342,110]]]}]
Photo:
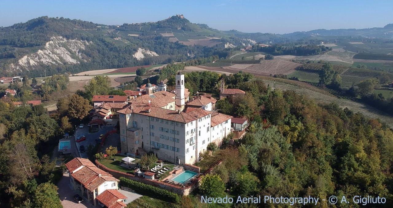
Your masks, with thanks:
[{"label": "bright green tree at bottom edge, left of the farmhouse driveway", "polygon": [[37,186],[34,194],[34,204],[41,208],[62,208],[57,186],[50,182],[42,183]]}]

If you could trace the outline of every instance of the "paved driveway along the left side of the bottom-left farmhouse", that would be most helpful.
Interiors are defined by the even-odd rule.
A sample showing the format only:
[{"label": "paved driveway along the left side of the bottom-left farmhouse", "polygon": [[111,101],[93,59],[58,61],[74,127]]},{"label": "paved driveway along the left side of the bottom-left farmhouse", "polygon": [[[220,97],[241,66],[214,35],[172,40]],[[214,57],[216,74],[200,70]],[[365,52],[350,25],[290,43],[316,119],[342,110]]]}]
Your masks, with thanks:
[{"label": "paved driveway along the left side of the bottom-left farmhouse", "polygon": [[[90,202],[87,202],[87,199],[85,198],[84,201],[80,204],[73,200],[73,196],[78,192],[71,188],[68,173],[63,175],[57,184],[57,187],[59,187],[57,192],[59,193],[61,205],[63,205],[64,208],[95,208],[95,206]],[[81,195],[80,193],[78,194]]]}]

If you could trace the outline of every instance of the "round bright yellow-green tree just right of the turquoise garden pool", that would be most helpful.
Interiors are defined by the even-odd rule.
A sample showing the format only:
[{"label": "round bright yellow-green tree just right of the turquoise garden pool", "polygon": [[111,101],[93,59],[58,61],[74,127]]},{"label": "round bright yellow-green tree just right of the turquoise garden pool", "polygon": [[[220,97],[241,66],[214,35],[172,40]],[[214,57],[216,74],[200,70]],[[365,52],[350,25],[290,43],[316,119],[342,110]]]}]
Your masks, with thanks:
[{"label": "round bright yellow-green tree just right of the turquoise garden pool", "polygon": [[221,197],[224,195],[225,184],[218,174],[207,174],[202,176],[199,190],[207,197]]}]

